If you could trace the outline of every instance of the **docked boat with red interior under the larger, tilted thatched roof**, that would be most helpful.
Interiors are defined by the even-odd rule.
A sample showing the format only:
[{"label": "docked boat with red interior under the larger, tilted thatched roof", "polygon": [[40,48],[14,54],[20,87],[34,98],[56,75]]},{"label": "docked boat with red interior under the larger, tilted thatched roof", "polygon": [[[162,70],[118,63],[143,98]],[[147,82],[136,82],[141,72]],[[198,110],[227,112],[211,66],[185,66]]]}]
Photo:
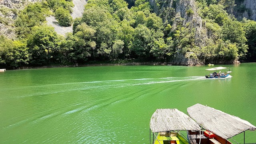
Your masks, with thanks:
[{"label": "docked boat with red interior under the larger, tilted thatched roof", "polygon": [[204,128],[201,131],[188,130],[190,144],[232,144],[230,141],[236,142],[232,139],[233,136],[241,133],[245,136],[246,130],[256,129],[256,126],[246,120],[202,104],[187,108],[187,112]]}]

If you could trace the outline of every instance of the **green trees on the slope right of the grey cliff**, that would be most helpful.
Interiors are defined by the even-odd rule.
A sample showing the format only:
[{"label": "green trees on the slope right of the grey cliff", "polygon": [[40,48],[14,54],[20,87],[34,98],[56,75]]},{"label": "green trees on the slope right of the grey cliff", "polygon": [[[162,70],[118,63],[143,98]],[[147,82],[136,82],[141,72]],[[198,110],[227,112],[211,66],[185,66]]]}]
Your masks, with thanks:
[{"label": "green trees on the slope right of the grey cliff", "polygon": [[[221,60],[252,60],[255,56],[254,38],[251,37],[256,32],[256,23],[251,20],[238,21],[234,15],[228,14],[234,8],[234,0],[216,1],[196,0],[200,9],[200,16],[206,21],[208,34],[211,34],[209,47],[219,47],[221,51],[215,51],[217,58]],[[214,42],[215,41],[215,42]],[[221,43],[218,43],[222,41]],[[227,45],[227,43],[229,43]],[[231,45],[230,45],[231,44]],[[223,47],[224,46],[224,47]],[[209,49],[209,48],[207,48]],[[224,57],[224,59],[222,59]]]}]

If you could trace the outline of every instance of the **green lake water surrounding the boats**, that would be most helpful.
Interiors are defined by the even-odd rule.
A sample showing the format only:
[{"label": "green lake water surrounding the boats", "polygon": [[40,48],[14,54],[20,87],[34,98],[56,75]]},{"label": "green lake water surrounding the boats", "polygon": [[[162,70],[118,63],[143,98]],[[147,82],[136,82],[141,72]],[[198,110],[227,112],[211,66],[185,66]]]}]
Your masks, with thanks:
[{"label": "green lake water surrounding the boats", "polygon": [[[0,72],[0,143],[149,144],[157,108],[186,114],[196,103],[256,125],[256,63],[217,66],[232,67],[233,77],[206,79],[209,66]],[[233,139],[243,143],[244,134]],[[245,142],[256,143],[256,131],[246,131]]]}]

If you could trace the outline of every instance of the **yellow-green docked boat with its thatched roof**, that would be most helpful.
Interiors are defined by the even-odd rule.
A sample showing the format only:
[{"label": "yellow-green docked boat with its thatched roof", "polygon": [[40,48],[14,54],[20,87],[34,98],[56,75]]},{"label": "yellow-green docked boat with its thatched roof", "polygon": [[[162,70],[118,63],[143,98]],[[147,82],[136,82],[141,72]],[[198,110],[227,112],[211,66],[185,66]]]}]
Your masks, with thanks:
[{"label": "yellow-green docked boat with its thatched roof", "polygon": [[200,131],[200,126],[178,109],[157,109],[150,119],[150,144],[189,144],[180,131]]}]

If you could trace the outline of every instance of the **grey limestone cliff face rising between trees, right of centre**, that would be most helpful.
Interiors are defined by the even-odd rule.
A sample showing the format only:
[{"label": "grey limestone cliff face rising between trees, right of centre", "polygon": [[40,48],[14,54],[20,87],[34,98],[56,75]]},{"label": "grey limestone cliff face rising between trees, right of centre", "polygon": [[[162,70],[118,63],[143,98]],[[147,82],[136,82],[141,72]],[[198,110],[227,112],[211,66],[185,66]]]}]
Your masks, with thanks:
[{"label": "grey limestone cliff face rising between trees, right of centre", "polygon": [[[153,6],[154,12],[156,12],[156,14],[158,15],[164,9],[174,8],[175,16],[172,23],[172,30],[175,30],[177,28],[177,25],[180,24],[182,24],[182,26],[190,30],[194,29],[194,40],[196,46],[206,46],[207,30],[205,28],[205,23],[202,21],[202,18],[198,15],[198,9],[196,8],[195,0],[150,0],[150,4]],[[187,52],[187,54],[180,53],[180,49],[181,48],[176,48],[178,53],[175,54],[175,58],[170,63],[189,66],[204,64],[204,62],[198,59],[189,58],[188,55],[191,55],[191,52]]]}]

